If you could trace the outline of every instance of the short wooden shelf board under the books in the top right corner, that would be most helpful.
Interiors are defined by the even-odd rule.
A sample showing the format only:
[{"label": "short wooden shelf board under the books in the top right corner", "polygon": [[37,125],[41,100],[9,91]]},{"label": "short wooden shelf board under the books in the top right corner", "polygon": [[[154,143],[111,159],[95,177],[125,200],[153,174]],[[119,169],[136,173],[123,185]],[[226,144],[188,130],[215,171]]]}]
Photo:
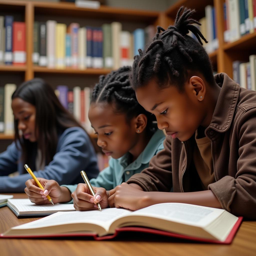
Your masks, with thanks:
[{"label": "short wooden shelf board under the books in the top right corner", "polygon": [[242,36],[237,41],[226,43],[224,50],[254,50],[256,46],[256,32]]}]

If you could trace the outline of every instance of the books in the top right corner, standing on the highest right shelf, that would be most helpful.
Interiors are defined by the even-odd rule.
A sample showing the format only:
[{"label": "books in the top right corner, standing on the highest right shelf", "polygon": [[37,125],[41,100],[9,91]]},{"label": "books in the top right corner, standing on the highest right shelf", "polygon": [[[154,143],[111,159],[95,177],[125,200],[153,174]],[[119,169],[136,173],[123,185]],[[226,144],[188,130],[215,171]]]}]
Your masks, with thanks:
[{"label": "books in the top right corner, standing on the highest right shelf", "polygon": [[223,9],[225,42],[256,31],[256,0],[226,0]]}]

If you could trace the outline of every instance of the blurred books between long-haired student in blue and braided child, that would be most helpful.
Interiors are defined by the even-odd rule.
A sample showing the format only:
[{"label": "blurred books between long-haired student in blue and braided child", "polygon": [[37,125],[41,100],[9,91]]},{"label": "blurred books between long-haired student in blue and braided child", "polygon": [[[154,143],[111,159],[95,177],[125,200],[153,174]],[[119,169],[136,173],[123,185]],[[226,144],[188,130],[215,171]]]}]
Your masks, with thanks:
[{"label": "blurred books between long-haired student in blue and braided child", "polygon": [[85,87],[81,89],[79,86],[69,90],[67,86],[59,85],[55,90],[55,94],[64,108],[74,115],[88,133],[94,132],[88,118],[91,93],[92,88]]}]

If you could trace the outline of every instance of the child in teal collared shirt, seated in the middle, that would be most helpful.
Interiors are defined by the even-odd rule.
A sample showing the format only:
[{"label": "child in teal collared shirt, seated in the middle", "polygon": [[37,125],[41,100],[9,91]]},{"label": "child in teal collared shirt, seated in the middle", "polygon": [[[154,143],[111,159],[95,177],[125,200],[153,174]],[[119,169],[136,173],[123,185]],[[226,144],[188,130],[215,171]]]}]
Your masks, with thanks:
[{"label": "child in teal collared shirt, seated in the middle", "polygon": [[[157,129],[155,117],[138,104],[129,82],[130,71],[130,67],[123,67],[106,77],[101,76],[92,94],[89,119],[98,135],[98,145],[103,153],[111,156],[109,167],[96,179],[90,180],[94,188],[104,188],[102,198],[108,198],[106,190],[148,167],[150,159],[163,149],[165,135]],[[44,183],[44,194],[49,193],[54,203],[68,202],[73,198],[76,210],[95,209],[90,201],[93,196],[84,182],[78,186],[61,187],[54,180],[44,180]],[[26,182],[25,192],[29,199],[36,204],[48,204],[46,196],[41,195],[42,189],[33,184],[33,180]],[[108,199],[101,201],[101,207],[108,207]]]}]

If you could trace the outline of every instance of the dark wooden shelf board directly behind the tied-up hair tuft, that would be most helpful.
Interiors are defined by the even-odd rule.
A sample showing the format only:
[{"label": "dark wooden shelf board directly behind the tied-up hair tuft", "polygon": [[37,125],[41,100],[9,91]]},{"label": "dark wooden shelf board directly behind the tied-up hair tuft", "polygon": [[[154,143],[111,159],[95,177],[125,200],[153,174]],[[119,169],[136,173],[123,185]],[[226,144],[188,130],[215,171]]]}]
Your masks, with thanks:
[{"label": "dark wooden shelf board directly behind the tied-up hair tuft", "polygon": [[174,5],[172,5],[166,11],[166,14],[172,17],[173,19],[175,19],[179,7],[184,6],[191,9],[195,9],[196,13],[193,15],[193,18],[201,19],[202,17],[205,17],[205,6],[207,5],[213,6],[213,2],[214,2],[213,0],[204,0],[202,4],[202,1],[181,0],[175,3]]}]

